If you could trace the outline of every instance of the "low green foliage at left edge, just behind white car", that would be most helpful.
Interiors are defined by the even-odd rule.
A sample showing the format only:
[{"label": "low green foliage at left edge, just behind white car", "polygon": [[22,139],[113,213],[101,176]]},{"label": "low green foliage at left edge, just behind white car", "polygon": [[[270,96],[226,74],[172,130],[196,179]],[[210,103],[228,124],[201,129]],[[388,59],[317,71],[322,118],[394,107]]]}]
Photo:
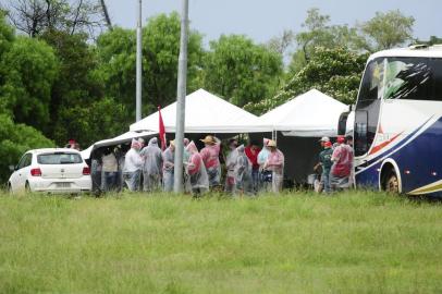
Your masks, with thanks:
[{"label": "low green foliage at left edge, just behind white car", "polygon": [[9,166],[34,148],[53,147],[53,143],[32,126],[14,124],[10,117],[0,114],[0,184],[10,175]]}]

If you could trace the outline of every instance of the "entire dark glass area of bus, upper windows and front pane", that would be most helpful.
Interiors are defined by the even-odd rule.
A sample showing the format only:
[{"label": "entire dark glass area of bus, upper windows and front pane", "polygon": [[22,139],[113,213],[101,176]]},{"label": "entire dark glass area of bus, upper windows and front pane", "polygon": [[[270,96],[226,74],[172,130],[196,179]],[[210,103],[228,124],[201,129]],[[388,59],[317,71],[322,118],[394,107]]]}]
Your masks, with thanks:
[{"label": "entire dark glass area of bus, upper windows and front pane", "polygon": [[355,155],[370,149],[382,100],[442,100],[442,59],[389,57],[371,60],[360,85],[355,112]]}]

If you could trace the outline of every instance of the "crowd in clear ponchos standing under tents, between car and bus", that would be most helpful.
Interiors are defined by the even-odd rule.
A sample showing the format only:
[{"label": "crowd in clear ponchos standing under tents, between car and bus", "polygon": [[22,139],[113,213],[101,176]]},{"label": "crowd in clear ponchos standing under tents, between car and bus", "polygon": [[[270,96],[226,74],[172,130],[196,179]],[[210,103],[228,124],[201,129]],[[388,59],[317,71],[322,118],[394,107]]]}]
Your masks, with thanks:
[{"label": "crowd in clear ponchos standing under tents, between car and bus", "polygon": [[[222,152],[222,142],[211,135],[200,139],[198,150],[194,142],[184,139],[183,188],[200,195],[208,191],[255,195],[259,192],[279,193],[284,179],[284,155],[272,139],[248,146],[228,140],[229,150]],[[105,148],[91,161],[95,186],[100,192],[130,191],[172,192],[174,186],[175,142],[161,150],[156,137],[147,146],[143,138],[133,139],[128,150],[123,146]],[[222,164],[221,162],[225,162]]]}]

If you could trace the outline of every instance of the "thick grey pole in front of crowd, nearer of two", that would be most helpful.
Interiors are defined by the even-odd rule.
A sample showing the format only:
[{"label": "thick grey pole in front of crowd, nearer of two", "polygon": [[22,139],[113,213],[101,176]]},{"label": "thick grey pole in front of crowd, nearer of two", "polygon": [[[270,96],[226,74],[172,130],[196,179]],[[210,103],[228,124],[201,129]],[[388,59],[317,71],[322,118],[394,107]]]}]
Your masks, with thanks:
[{"label": "thick grey pole in front of crowd, nearer of two", "polygon": [[173,191],[175,193],[183,192],[183,151],[187,85],[188,0],[182,1],[179,82],[176,87],[175,168],[173,182]]}]

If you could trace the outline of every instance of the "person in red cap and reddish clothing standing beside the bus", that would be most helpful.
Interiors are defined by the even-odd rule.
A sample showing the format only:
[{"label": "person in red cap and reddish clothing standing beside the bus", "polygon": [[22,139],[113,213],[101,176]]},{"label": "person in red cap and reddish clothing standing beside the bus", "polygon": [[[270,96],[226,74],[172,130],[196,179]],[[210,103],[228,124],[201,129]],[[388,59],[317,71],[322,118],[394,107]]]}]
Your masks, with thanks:
[{"label": "person in red cap and reddish clothing standing beside the bus", "polygon": [[345,144],[344,136],[337,136],[331,161],[330,186],[332,191],[348,188],[353,167],[353,148]]}]

